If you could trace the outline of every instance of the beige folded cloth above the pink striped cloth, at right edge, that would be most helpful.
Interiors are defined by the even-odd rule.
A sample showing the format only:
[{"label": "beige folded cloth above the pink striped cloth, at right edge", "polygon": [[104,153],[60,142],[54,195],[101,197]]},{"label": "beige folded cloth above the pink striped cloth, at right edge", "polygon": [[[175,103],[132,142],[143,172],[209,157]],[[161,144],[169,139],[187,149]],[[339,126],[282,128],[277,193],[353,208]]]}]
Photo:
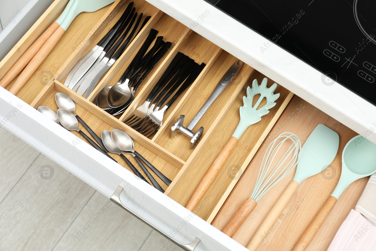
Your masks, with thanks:
[{"label": "beige folded cloth above the pink striped cloth, at right edge", "polygon": [[[360,196],[355,210],[363,214],[376,225],[376,173],[371,175],[367,186]],[[376,248],[375,248],[376,250]]]}]

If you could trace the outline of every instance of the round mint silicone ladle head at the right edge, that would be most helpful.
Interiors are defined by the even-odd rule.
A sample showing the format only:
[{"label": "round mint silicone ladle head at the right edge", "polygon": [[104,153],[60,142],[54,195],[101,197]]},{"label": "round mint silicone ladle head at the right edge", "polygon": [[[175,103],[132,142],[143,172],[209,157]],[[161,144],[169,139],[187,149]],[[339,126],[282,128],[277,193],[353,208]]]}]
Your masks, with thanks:
[{"label": "round mint silicone ladle head at the right edge", "polygon": [[376,145],[361,135],[353,137],[343,149],[341,178],[332,196],[340,198],[351,183],[375,172]]}]

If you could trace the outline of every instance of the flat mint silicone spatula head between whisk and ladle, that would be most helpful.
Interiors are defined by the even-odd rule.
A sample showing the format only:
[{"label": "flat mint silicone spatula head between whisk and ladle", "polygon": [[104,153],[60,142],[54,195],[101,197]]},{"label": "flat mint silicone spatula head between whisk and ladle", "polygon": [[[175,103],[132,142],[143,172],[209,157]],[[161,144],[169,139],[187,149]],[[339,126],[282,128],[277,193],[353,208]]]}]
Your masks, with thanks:
[{"label": "flat mint silicone spatula head between whisk and ladle", "polygon": [[339,145],[337,132],[323,124],[317,125],[302,146],[294,181],[300,184],[329,166],[337,155]]}]

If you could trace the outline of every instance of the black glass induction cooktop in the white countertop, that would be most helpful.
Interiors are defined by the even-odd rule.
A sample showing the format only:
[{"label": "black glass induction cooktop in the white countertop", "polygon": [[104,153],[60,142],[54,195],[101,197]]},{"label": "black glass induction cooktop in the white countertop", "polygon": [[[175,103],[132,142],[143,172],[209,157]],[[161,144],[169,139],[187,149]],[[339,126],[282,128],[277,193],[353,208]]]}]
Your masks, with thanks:
[{"label": "black glass induction cooktop in the white countertop", "polygon": [[206,1],[376,104],[375,0]]}]

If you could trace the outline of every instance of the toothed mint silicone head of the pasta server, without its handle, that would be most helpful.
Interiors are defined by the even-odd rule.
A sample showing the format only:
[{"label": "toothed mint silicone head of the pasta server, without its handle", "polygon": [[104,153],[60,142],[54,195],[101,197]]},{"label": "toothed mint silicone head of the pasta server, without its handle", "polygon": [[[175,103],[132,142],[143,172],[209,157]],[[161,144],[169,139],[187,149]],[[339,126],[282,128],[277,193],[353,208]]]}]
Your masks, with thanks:
[{"label": "toothed mint silicone head of the pasta server, without its handle", "polygon": [[[247,96],[243,97],[243,106],[240,106],[240,122],[233,137],[239,139],[241,135],[246,131],[248,126],[253,125],[261,120],[261,117],[269,113],[269,109],[274,107],[276,103],[274,101],[279,97],[279,93],[274,94],[277,88],[277,84],[274,83],[271,87],[267,87],[268,79],[264,78],[259,85],[257,79],[253,80],[252,88],[247,87]],[[258,101],[252,107],[253,97],[260,94]],[[257,110],[263,98],[266,98],[266,103],[260,109]]]}]

